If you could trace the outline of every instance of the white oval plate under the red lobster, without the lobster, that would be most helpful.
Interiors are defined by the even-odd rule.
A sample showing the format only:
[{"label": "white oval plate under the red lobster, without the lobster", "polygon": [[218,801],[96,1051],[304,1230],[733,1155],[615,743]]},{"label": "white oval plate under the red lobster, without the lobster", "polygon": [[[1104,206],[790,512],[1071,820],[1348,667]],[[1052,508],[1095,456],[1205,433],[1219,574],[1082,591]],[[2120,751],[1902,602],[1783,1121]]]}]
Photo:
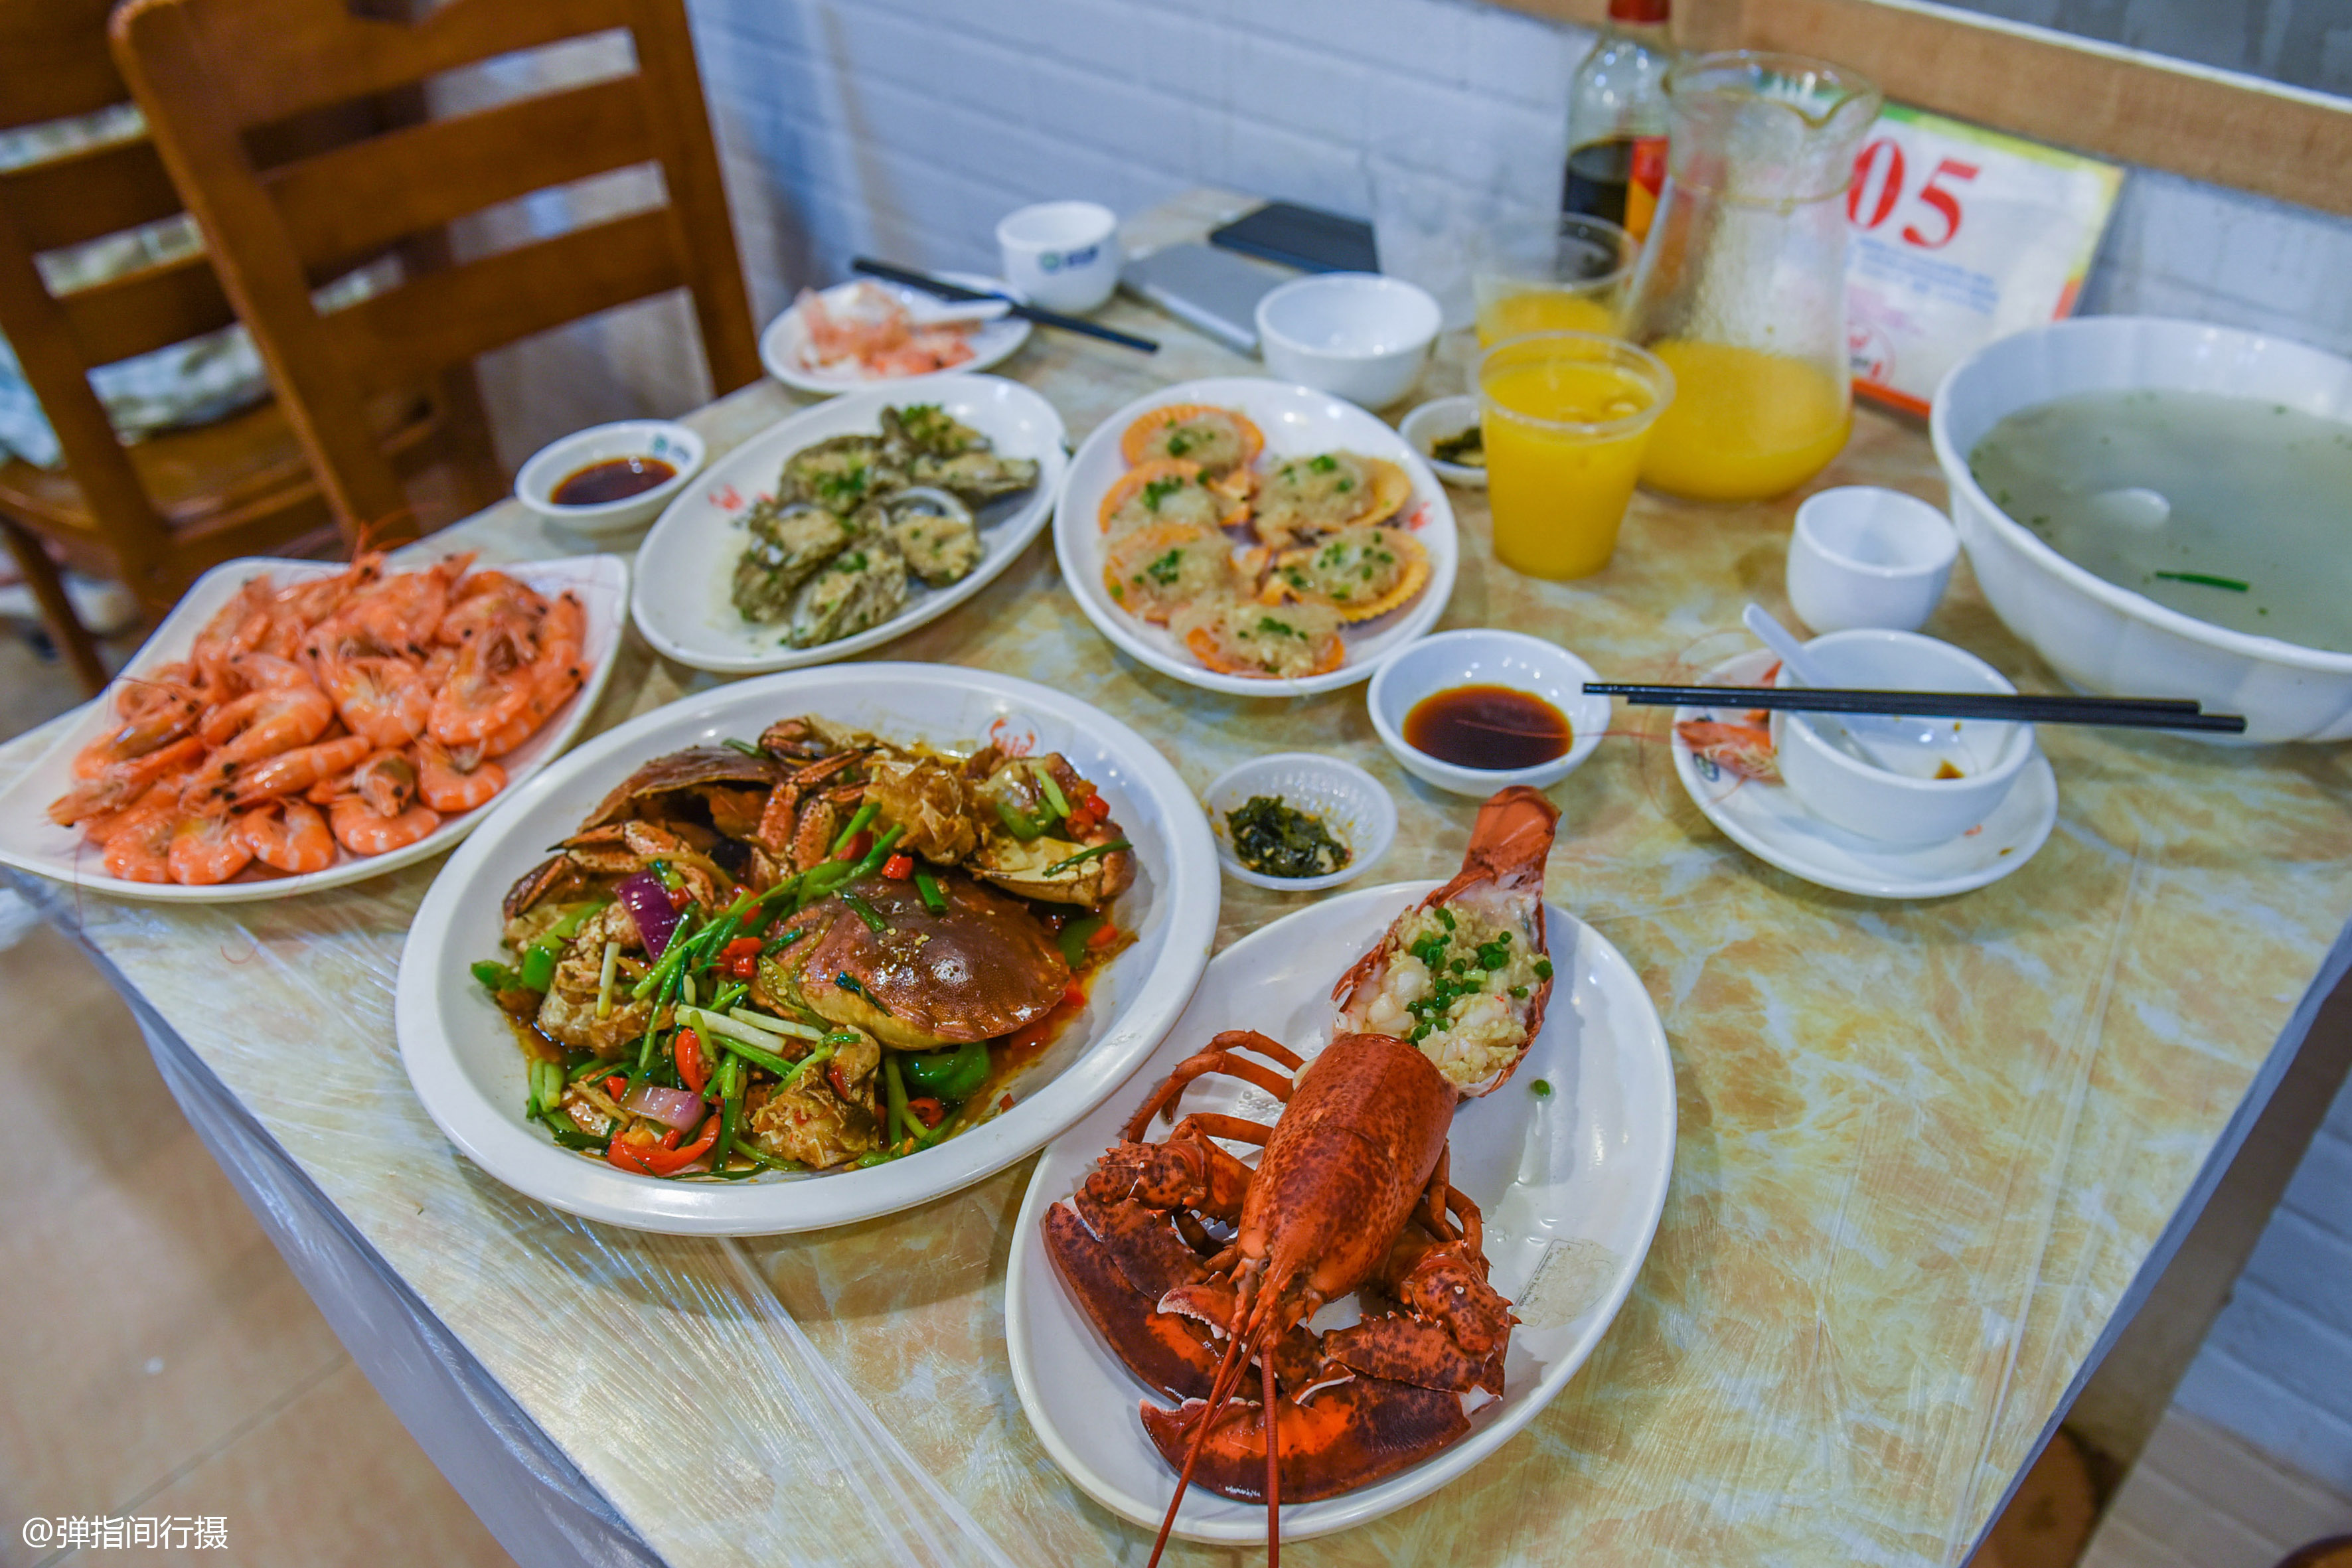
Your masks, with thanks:
[{"label": "white oval plate under the red lobster, without the lobster", "polygon": [[[1319,1048],[1331,1034],[1331,983],[1432,886],[1392,882],[1338,893],[1221,952],[1145,1070],[1037,1161],[1004,1276],[1014,1387],[1047,1453],[1122,1519],[1157,1528],[1176,1474],[1136,1418],[1136,1399],[1150,1392],[1070,1298],[1040,1218],[1077,1192],[1143,1093],[1218,1030],[1254,1027],[1301,1053]],[[1545,910],[1557,985],[1543,1032],[1503,1088],[1454,1114],[1454,1185],[1484,1211],[1494,1286],[1522,1319],[1510,1335],[1503,1399],[1472,1413],[1468,1436],[1421,1465],[1343,1497],[1284,1507],[1284,1540],[1390,1514],[1501,1448],[1592,1354],[1658,1232],[1675,1166],[1665,1025],[1625,954],[1559,905]],[[1552,1086],[1548,1098],[1534,1095],[1536,1079]],[[1256,1110],[1232,1081],[1200,1079],[1183,1107],[1258,1117],[1272,1105],[1263,1091],[1247,1093]],[[1265,1509],[1195,1488],[1176,1514],[1176,1535],[1251,1544],[1265,1537]]]}]

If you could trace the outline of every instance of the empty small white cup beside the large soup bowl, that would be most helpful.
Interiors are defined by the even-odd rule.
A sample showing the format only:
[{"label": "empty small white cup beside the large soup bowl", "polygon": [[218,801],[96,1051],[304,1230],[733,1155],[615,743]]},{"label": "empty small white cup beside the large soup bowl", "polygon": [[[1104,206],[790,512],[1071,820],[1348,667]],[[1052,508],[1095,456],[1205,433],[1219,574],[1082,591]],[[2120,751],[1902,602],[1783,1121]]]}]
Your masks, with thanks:
[{"label": "empty small white cup beside the large soup bowl", "polygon": [[1936,614],[1959,534],[1917,496],[1842,484],[1797,508],[1788,602],[1816,632],[1917,632]]}]

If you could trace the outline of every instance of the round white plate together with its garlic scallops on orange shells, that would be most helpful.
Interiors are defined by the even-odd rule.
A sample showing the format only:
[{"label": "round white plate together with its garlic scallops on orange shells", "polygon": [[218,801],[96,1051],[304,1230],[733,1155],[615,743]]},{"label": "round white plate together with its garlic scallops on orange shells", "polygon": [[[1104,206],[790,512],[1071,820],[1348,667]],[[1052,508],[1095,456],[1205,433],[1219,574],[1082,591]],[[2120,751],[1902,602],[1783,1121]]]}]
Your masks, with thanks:
[{"label": "round white plate together with its garlic scallops on orange shells", "polygon": [[1112,644],[1192,686],[1303,696],[1371,677],[1454,592],[1454,505],[1364,409],[1221,376],[1138,397],[1070,458],[1054,550]]}]

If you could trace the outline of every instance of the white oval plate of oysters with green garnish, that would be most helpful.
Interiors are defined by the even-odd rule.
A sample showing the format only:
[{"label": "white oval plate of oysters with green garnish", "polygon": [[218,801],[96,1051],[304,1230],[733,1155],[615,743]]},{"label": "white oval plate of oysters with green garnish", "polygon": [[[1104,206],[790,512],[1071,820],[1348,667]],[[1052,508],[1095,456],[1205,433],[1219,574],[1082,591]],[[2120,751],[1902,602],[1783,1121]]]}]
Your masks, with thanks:
[{"label": "white oval plate of oysters with green garnish", "polygon": [[661,512],[630,614],[661,654],[720,675],[877,649],[1037,538],[1063,440],[1054,404],[1002,376],[922,376],[793,414]]}]

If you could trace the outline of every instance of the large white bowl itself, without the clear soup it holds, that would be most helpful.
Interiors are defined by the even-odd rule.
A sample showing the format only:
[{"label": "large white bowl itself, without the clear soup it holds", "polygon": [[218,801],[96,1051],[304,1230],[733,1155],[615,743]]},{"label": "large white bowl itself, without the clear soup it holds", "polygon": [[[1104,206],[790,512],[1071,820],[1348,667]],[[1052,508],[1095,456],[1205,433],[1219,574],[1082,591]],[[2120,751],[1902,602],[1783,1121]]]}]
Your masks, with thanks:
[{"label": "large white bowl itself, without the clear soup it holds", "polygon": [[1936,388],[1929,435],[1994,614],[2084,691],[2197,698],[2246,715],[2244,741],[2352,738],[2352,654],[2230,632],[2117,588],[2009,520],[1969,475],[1969,451],[2004,416],[2112,388],[2225,393],[2352,418],[2352,360],[2258,331],[2105,315],[1987,343]]}]

